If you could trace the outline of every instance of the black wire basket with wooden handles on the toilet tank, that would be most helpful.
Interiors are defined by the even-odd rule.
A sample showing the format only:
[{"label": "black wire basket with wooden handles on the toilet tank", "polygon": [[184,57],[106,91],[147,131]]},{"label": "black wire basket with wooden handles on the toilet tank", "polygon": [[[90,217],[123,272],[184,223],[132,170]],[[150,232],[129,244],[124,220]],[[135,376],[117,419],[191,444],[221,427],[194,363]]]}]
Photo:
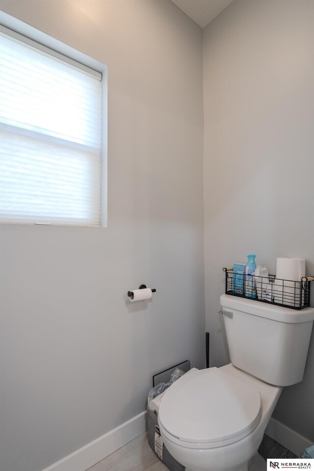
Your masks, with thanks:
[{"label": "black wire basket with wooden handles on the toilet tank", "polygon": [[314,276],[291,281],[276,278],[275,275],[236,274],[235,277],[233,268],[223,268],[223,271],[226,294],[290,309],[300,310],[310,306],[311,281],[314,281]]}]

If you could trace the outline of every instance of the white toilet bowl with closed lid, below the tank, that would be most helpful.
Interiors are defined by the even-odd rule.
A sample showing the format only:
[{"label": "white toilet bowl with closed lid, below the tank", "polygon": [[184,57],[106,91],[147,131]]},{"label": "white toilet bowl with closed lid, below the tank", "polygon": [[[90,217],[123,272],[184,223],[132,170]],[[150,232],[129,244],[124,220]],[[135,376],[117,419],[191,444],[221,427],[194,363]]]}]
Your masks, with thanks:
[{"label": "white toilet bowl with closed lid, below the tank", "polygon": [[186,471],[247,470],[281,391],[232,364],[182,376],[160,403],[163,442]]}]

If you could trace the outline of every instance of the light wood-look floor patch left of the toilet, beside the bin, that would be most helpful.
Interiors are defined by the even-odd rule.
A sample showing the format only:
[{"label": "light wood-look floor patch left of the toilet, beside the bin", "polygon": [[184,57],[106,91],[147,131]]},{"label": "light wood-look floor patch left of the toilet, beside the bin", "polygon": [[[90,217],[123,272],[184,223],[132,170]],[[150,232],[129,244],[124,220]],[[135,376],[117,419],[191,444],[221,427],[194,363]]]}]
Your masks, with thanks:
[{"label": "light wood-look floor patch left of the toilet, beside the bin", "polygon": [[[167,471],[148,445],[147,433],[122,446],[88,471]],[[169,470],[168,470],[169,471]]]}]

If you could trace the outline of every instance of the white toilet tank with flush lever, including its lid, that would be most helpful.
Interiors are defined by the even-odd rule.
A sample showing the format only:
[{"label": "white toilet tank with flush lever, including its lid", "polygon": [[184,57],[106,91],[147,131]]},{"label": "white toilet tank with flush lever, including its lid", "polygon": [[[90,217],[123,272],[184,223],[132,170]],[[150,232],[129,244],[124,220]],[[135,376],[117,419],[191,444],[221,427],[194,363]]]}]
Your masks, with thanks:
[{"label": "white toilet tank with flush lever, including its lid", "polygon": [[314,308],[297,311],[227,294],[220,304],[234,366],[276,386],[302,381]]}]

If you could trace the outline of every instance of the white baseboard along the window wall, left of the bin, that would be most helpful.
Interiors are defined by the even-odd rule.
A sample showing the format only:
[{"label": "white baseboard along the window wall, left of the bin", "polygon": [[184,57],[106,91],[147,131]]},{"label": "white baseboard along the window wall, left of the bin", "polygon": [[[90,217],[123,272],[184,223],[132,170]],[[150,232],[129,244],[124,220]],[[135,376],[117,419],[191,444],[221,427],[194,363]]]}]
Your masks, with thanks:
[{"label": "white baseboard along the window wall, left of the bin", "polygon": [[146,411],[138,414],[94,442],[57,461],[43,471],[86,471],[121,446],[131,442],[147,430]]}]

